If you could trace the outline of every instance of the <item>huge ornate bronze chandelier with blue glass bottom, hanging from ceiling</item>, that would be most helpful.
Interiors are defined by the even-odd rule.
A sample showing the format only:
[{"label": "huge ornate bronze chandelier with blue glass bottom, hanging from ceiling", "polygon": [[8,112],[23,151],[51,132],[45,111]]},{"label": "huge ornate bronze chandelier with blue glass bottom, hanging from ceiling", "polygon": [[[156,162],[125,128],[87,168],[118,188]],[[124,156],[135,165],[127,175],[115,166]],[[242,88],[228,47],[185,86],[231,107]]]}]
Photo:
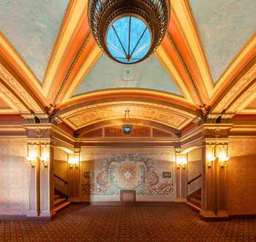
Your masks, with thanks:
[{"label": "huge ornate bronze chandelier with blue glass bottom, hanging from ceiling", "polygon": [[89,0],[94,39],[122,64],[148,58],[162,42],[169,20],[169,0]]}]

